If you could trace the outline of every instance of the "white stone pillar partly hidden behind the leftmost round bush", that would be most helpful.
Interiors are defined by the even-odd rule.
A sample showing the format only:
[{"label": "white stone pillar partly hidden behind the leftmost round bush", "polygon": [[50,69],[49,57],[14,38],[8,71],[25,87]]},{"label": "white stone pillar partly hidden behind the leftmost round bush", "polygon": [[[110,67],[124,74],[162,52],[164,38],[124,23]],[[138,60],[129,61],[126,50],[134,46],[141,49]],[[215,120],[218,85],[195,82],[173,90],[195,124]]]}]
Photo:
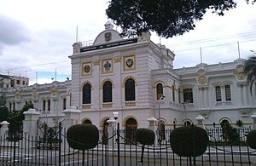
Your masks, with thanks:
[{"label": "white stone pillar partly hidden behind the leftmost round bush", "polygon": [[74,124],[79,124],[81,111],[77,109],[76,106],[70,106],[66,110],[63,111],[65,114],[65,119],[63,121],[63,128],[68,129],[70,126]]}]

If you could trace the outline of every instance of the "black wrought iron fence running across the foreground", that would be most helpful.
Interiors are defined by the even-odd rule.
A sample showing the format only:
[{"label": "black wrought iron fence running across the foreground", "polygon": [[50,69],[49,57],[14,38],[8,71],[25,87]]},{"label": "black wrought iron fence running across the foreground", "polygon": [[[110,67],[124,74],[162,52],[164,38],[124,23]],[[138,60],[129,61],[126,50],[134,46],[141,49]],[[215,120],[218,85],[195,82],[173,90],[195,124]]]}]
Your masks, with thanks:
[{"label": "black wrought iron fence running across the foreground", "polygon": [[[248,131],[249,129],[239,130],[241,142],[245,142]],[[17,141],[9,141],[8,135],[2,135],[0,165],[189,165],[189,157],[179,157],[172,152],[169,141],[171,132],[171,129],[167,129],[165,137],[162,135],[159,137],[156,132],[157,138],[162,140],[156,141],[152,146],[145,146],[142,162],[143,146],[131,141],[131,137],[127,137],[125,130],[108,131],[113,135],[108,135],[105,140],[99,140],[98,146],[83,154],[82,151],[68,146],[66,129],[62,129],[59,123],[55,142],[48,140],[50,137],[44,137],[44,135],[23,135],[22,140]],[[207,129],[207,132],[212,141],[207,152],[195,158],[197,165],[253,165],[253,162],[255,163],[255,151],[246,144],[228,143],[228,140],[223,139],[221,129]],[[105,143],[102,144],[102,141]]]}]

